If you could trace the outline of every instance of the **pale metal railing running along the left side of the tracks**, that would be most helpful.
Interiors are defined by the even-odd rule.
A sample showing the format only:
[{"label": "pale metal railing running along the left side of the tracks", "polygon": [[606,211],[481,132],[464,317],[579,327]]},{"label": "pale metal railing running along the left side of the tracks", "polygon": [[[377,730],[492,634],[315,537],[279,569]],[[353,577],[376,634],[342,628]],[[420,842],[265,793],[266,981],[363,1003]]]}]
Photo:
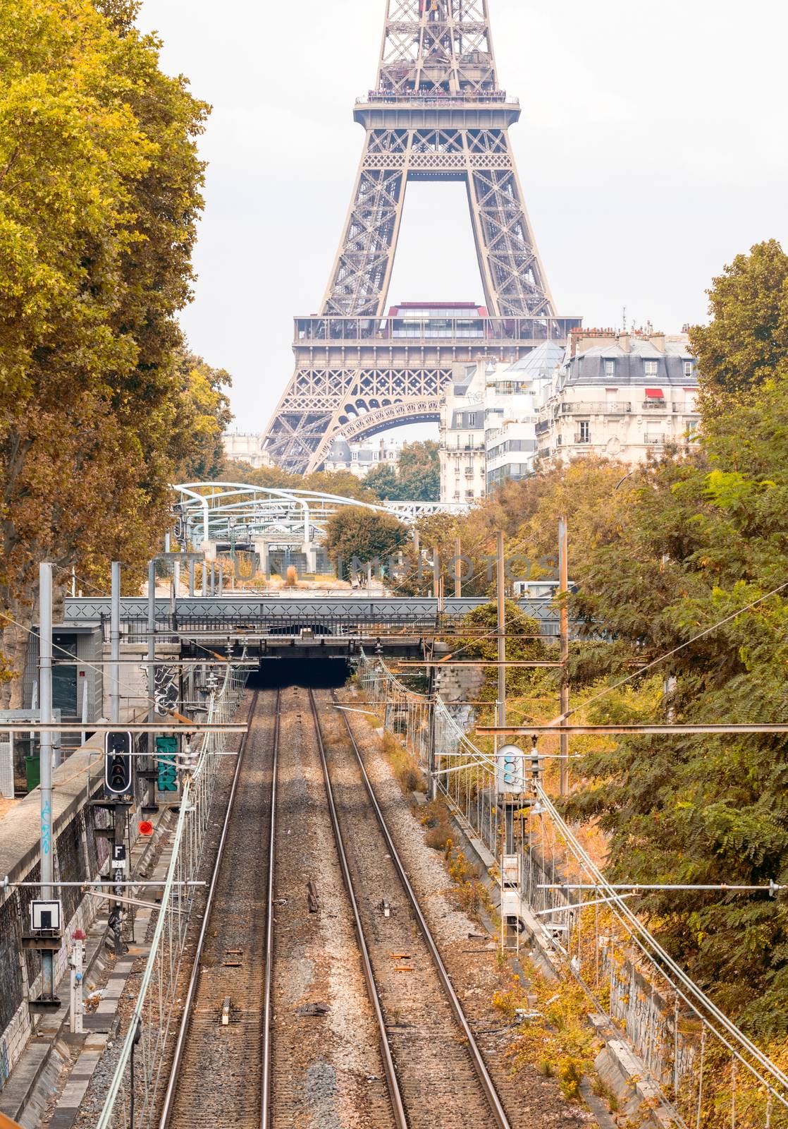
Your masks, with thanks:
[{"label": "pale metal railing running along the left side of the tracks", "polygon": [[[245,674],[228,667],[221,691],[211,698],[209,721],[231,720],[245,681]],[[135,1129],[148,1129],[157,1123],[172,1049],[170,1031],[175,1024],[181,959],[196,890],[188,883],[197,879],[225,743],[227,738],[220,735],[205,734],[195,754],[194,771],[185,773],[171,860],[161,904],[153,913],[150,953],[96,1129],[126,1129],[132,1123],[132,1103]]]}]

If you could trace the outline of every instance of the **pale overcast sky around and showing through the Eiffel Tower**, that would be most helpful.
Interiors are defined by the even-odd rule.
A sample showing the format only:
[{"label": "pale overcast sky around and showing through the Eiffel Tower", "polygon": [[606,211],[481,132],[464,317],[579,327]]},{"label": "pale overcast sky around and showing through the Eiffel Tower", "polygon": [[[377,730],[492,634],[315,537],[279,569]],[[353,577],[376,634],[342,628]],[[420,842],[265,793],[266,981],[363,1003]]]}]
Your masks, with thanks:
[{"label": "pale overcast sky around and showing through the Eiffel Tower", "polygon": [[[213,105],[192,348],[233,377],[239,430],[318,309],[374,81],[384,0],[144,0],[162,64]],[[490,0],[514,152],[557,313],[680,331],[761,239],[788,246],[785,0]],[[408,186],[391,304],[481,301],[461,184]]]}]

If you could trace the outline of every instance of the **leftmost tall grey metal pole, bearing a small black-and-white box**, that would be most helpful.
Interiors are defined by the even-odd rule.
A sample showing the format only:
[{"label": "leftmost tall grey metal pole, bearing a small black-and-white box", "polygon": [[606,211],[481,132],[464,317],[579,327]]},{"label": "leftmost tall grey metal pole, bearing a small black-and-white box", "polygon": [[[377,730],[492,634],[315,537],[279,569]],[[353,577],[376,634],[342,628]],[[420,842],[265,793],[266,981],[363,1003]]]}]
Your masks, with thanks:
[{"label": "leftmost tall grey metal pole, bearing a small black-and-white box", "polygon": [[[38,566],[38,602],[41,604],[38,701],[41,720],[52,725],[52,564]],[[39,745],[41,767],[41,898],[52,900],[53,850],[52,838],[52,768],[54,734],[42,733]],[[41,954],[41,998],[52,1003],[55,997],[55,954],[44,949]]]}]

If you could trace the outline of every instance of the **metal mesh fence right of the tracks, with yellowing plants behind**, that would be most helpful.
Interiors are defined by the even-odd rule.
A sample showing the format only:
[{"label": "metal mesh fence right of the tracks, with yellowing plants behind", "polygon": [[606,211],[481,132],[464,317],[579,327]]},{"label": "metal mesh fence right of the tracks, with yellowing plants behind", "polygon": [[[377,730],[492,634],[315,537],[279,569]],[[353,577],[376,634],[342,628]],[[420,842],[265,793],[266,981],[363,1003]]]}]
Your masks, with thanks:
[{"label": "metal mesh fence right of the tracks, with yellowing plants behind", "polygon": [[[380,658],[363,656],[358,675],[386,728],[432,771],[460,825],[501,858],[494,756],[466,732],[470,708],[408,690]],[[638,1086],[661,1123],[682,1129],[788,1126],[788,1074],[659,945],[540,784],[520,812],[515,835],[521,896],[534,928],[564,974],[581,984],[593,1010],[644,1064]],[[567,892],[561,889],[567,883],[585,884],[591,892],[585,898]]]}]

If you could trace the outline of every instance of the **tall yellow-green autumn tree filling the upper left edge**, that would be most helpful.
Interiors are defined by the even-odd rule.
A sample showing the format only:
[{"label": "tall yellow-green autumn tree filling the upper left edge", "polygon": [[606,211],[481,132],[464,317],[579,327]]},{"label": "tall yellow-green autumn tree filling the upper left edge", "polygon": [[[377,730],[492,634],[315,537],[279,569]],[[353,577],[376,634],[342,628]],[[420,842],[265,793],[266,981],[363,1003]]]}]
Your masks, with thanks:
[{"label": "tall yellow-green autumn tree filling the upper left edge", "polygon": [[122,559],[134,586],[184,411],[202,411],[176,315],[207,107],[161,72],[133,5],[105,7],[0,9],[0,604],[17,672],[41,560],[104,586]]}]

